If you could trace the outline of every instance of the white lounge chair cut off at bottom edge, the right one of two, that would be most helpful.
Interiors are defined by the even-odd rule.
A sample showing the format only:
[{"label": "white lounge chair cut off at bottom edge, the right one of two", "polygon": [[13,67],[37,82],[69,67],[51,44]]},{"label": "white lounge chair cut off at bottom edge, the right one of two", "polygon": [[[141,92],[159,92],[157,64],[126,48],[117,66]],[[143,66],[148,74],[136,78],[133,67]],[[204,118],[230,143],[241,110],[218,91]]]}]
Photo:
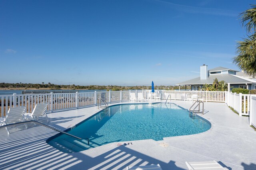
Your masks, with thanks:
[{"label": "white lounge chair cut off at bottom edge, the right one of two", "polygon": [[228,170],[215,160],[204,162],[186,162],[189,170]]}]

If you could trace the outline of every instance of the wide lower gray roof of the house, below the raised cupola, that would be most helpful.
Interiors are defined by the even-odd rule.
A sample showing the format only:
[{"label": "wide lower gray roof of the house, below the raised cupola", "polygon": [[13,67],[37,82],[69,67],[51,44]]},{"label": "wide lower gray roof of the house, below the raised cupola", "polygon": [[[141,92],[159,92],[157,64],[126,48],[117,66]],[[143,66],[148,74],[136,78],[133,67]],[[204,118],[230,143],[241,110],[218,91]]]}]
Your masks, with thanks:
[{"label": "wide lower gray roof of the house, below the raised cupola", "polygon": [[194,78],[191,80],[187,80],[181,83],[178,83],[177,85],[191,85],[191,84],[212,84],[213,80],[217,78],[218,81],[225,81],[226,83],[230,84],[245,84],[245,83],[256,83],[255,80],[251,80],[249,78],[244,78],[241,76],[236,76],[232,74],[216,74],[216,75],[210,75],[208,76],[208,79],[206,80],[200,80],[200,77]]}]

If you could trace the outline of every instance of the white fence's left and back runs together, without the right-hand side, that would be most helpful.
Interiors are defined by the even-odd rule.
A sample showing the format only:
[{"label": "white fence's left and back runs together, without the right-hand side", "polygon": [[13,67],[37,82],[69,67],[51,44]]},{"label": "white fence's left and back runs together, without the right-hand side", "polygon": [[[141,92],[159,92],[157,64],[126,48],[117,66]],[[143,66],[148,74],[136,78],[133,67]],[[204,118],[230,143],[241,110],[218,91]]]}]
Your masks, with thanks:
[{"label": "white fence's left and back runs together, without the right-hand side", "polygon": [[189,96],[196,94],[198,99],[209,102],[225,102],[225,92],[207,91],[168,91],[168,90],[127,90],[84,93],[48,93],[48,94],[12,94],[0,95],[0,117],[4,117],[10,107],[27,106],[27,111],[32,112],[36,104],[48,103],[48,111],[72,109],[85,106],[95,106],[98,99],[103,98],[108,103],[130,100],[130,93],[142,93],[148,100],[187,100]]}]

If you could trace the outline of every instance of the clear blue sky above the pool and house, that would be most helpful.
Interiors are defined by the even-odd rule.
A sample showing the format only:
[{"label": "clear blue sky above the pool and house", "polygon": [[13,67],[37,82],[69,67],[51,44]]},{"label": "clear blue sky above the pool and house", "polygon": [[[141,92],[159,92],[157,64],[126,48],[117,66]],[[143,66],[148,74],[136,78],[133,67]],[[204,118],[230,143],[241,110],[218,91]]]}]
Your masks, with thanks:
[{"label": "clear blue sky above the pool and house", "polygon": [[[0,0],[0,82],[156,86],[232,64],[251,0]],[[256,3],[255,3],[256,4]]]}]

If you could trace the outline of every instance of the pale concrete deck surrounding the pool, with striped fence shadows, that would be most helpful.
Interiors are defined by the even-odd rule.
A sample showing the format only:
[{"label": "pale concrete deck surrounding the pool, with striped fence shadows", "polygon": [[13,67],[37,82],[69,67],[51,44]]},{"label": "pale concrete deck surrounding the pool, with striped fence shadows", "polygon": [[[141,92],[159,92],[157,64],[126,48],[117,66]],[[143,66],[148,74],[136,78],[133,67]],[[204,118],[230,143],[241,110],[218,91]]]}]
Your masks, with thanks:
[{"label": "pale concrete deck surrounding the pool, with striped fence shadows", "polygon": [[[186,109],[192,105],[186,101],[172,103]],[[63,153],[48,145],[46,139],[57,132],[46,127],[30,123],[28,129],[24,125],[11,129],[10,135],[2,128],[0,169],[123,170],[126,166],[160,164],[163,170],[186,170],[186,161],[216,160],[230,170],[256,170],[256,131],[249,126],[248,117],[236,115],[224,103],[205,102],[204,109],[206,113],[201,116],[212,123],[204,133],[163,141],[119,142],[130,143],[122,146],[116,142],[76,153]],[[64,130],[98,111],[93,106],[48,113],[48,124]]]}]

